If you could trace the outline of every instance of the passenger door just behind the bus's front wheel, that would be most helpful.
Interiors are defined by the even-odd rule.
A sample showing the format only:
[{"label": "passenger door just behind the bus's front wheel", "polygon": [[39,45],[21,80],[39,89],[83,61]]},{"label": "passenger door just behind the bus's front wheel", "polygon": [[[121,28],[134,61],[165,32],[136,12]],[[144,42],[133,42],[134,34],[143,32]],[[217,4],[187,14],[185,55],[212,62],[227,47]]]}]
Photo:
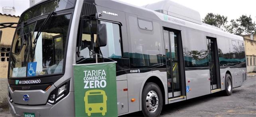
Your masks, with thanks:
[{"label": "passenger door just behind the bus's front wheel", "polygon": [[[164,28],[163,36],[165,40],[165,56],[167,67],[167,85],[168,85],[168,98],[177,98],[182,94],[182,89],[185,87],[182,85],[181,75],[183,73],[183,57],[181,45],[180,31]],[[184,80],[184,78],[183,78]]]}]

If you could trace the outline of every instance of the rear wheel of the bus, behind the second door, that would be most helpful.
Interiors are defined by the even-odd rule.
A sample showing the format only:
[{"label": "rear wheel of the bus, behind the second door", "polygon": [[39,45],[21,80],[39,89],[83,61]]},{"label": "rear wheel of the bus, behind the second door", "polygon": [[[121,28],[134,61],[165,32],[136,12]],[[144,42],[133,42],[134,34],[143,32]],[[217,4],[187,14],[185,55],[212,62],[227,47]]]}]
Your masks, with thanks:
[{"label": "rear wheel of the bus, behind the second door", "polygon": [[230,74],[226,74],[225,76],[225,90],[223,91],[223,94],[225,96],[230,96],[233,91],[233,84],[232,84],[232,78]]}]

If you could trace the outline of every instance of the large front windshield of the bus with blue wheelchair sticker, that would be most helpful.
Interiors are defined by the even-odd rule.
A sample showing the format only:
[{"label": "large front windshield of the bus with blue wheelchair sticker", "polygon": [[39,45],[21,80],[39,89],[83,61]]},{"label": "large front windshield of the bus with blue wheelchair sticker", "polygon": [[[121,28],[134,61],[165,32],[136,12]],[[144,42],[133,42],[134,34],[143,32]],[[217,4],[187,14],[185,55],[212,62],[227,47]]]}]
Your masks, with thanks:
[{"label": "large front windshield of the bus with blue wheelchair sticker", "polygon": [[[63,0],[55,0],[54,3],[56,1],[61,3],[60,1]],[[43,5],[40,8],[42,7]],[[52,10],[52,12],[54,11],[56,10]],[[30,16],[32,18],[32,15]],[[20,21],[24,17],[28,17],[28,15],[23,14]],[[9,77],[32,77],[63,73],[63,60],[70,20],[71,14],[67,13],[48,15],[46,18],[28,23],[19,22],[12,43]]]}]

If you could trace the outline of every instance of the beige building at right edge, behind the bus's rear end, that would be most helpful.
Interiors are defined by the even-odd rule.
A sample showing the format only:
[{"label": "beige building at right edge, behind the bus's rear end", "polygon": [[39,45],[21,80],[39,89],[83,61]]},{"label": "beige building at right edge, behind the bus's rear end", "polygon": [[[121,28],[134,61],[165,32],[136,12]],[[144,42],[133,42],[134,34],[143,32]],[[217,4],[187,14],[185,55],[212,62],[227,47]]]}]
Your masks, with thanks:
[{"label": "beige building at right edge, behind the bus's rear end", "polygon": [[244,37],[247,73],[256,72],[256,33]]}]

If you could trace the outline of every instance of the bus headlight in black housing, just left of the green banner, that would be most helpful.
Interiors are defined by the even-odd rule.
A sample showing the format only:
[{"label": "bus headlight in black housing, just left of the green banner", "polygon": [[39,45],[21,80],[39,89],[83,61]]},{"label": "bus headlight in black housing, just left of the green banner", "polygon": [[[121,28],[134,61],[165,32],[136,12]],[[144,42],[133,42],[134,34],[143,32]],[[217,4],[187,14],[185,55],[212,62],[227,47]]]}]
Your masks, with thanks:
[{"label": "bus headlight in black housing, just left of the green banner", "polygon": [[68,81],[60,87],[53,90],[49,96],[48,103],[56,104],[57,102],[59,102],[59,100],[67,96],[67,94],[69,94],[69,84],[70,82]]}]

